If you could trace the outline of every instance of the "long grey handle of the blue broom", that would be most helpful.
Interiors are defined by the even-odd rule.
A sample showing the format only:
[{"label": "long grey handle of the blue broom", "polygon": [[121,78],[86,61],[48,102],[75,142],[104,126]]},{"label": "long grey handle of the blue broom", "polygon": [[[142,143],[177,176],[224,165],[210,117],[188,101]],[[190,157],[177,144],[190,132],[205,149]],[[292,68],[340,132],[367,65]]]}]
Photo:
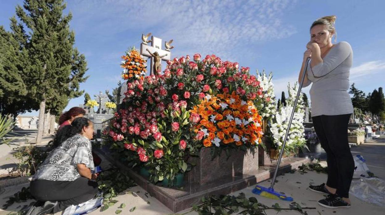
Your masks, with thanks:
[{"label": "long grey handle of the blue broom", "polygon": [[275,168],[273,181],[271,182],[271,186],[270,186],[271,189],[273,189],[273,186],[275,184],[275,179],[277,177],[278,168],[280,167],[283,151],[285,150],[286,141],[288,139],[288,135],[290,132],[291,121],[293,120],[293,117],[294,117],[295,107],[297,106],[298,98],[300,98],[301,89],[302,89],[303,81],[305,80],[305,75],[306,75],[306,71],[308,69],[309,61],[310,61],[310,57],[308,57],[306,59],[305,68],[303,69],[303,73],[302,73],[302,77],[301,77],[301,83],[300,83],[300,86],[298,87],[298,92],[297,92],[297,96],[296,96],[295,101],[294,101],[293,110],[291,111],[291,116],[289,119],[288,128],[286,129],[285,139],[283,139],[280,157],[278,158],[277,167]]}]

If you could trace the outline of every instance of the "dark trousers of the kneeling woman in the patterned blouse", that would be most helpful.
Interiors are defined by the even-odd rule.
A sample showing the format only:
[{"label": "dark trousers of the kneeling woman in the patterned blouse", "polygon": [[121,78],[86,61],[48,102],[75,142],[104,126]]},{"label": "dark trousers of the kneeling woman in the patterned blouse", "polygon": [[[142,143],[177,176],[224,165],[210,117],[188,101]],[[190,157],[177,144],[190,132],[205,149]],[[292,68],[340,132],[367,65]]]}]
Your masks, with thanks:
[{"label": "dark trousers of the kneeling woman in the patterned blouse", "polygon": [[78,205],[95,197],[98,192],[97,182],[85,177],[74,181],[33,180],[30,192],[41,202],[58,201],[54,213],[65,210],[70,205]]}]

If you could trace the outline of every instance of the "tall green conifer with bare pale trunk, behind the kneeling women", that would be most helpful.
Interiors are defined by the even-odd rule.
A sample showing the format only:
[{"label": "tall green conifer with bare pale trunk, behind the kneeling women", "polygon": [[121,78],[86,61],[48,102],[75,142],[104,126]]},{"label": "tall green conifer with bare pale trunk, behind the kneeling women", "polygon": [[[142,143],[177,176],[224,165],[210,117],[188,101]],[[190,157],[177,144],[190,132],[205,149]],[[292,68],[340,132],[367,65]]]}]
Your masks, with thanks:
[{"label": "tall green conifer with bare pale trunk, behind the kneeling women", "polygon": [[[29,53],[28,96],[39,104],[40,142],[44,114],[61,112],[70,98],[83,94],[79,84],[88,77],[84,55],[74,48],[74,32],[69,29],[71,13],[63,15],[63,0],[25,0],[16,14],[30,30],[26,47]],[[47,108],[47,111],[46,111]]]}]

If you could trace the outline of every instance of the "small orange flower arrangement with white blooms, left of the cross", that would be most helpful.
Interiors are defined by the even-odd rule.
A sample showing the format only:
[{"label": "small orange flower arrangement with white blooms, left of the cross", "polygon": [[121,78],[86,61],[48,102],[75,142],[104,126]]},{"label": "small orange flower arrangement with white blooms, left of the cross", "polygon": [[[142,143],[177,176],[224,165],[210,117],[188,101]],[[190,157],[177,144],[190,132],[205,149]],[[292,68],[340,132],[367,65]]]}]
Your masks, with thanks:
[{"label": "small orange flower arrangement with white blooms, left of the cross", "polygon": [[143,79],[146,75],[146,60],[143,60],[139,51],[132,48],[126,52],[126,55],[122,56],[121,67],[124,68],[122,71],[122,78],[128,79]]}]

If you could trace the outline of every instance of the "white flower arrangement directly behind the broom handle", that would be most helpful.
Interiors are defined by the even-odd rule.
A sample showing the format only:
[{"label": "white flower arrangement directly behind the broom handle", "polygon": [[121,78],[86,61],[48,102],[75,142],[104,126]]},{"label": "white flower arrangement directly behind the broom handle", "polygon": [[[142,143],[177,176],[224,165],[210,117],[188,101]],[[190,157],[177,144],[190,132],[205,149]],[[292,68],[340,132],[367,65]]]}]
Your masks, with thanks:
[{"label": "white flower arrangement directly behind the broom handle", "polygon": [[[298,91],[298,86],[295,84],[294,88],[290,87],[288,84],[289,97],[286,99],[286,106],[281,105],[276,113],[276,116],[273,117],[273,123],[271,124],[270,131],[272,133],[273,142],[275,144],[275,149],[280,150],[283,144],[285,134],[288,128],[289,119],[291,112],[293,110],[293,104],[296,97],[296,92]],[[286,141],[285,153],[291,154],[296,152],[297,149],[306,147],[305,140],[305,127],[303,126],[304,114],[303,109],[303,99],[302,95],[298,98],[297,106],[295,109],[294,117],[291,122],[290,132],[288,139]]]}]

